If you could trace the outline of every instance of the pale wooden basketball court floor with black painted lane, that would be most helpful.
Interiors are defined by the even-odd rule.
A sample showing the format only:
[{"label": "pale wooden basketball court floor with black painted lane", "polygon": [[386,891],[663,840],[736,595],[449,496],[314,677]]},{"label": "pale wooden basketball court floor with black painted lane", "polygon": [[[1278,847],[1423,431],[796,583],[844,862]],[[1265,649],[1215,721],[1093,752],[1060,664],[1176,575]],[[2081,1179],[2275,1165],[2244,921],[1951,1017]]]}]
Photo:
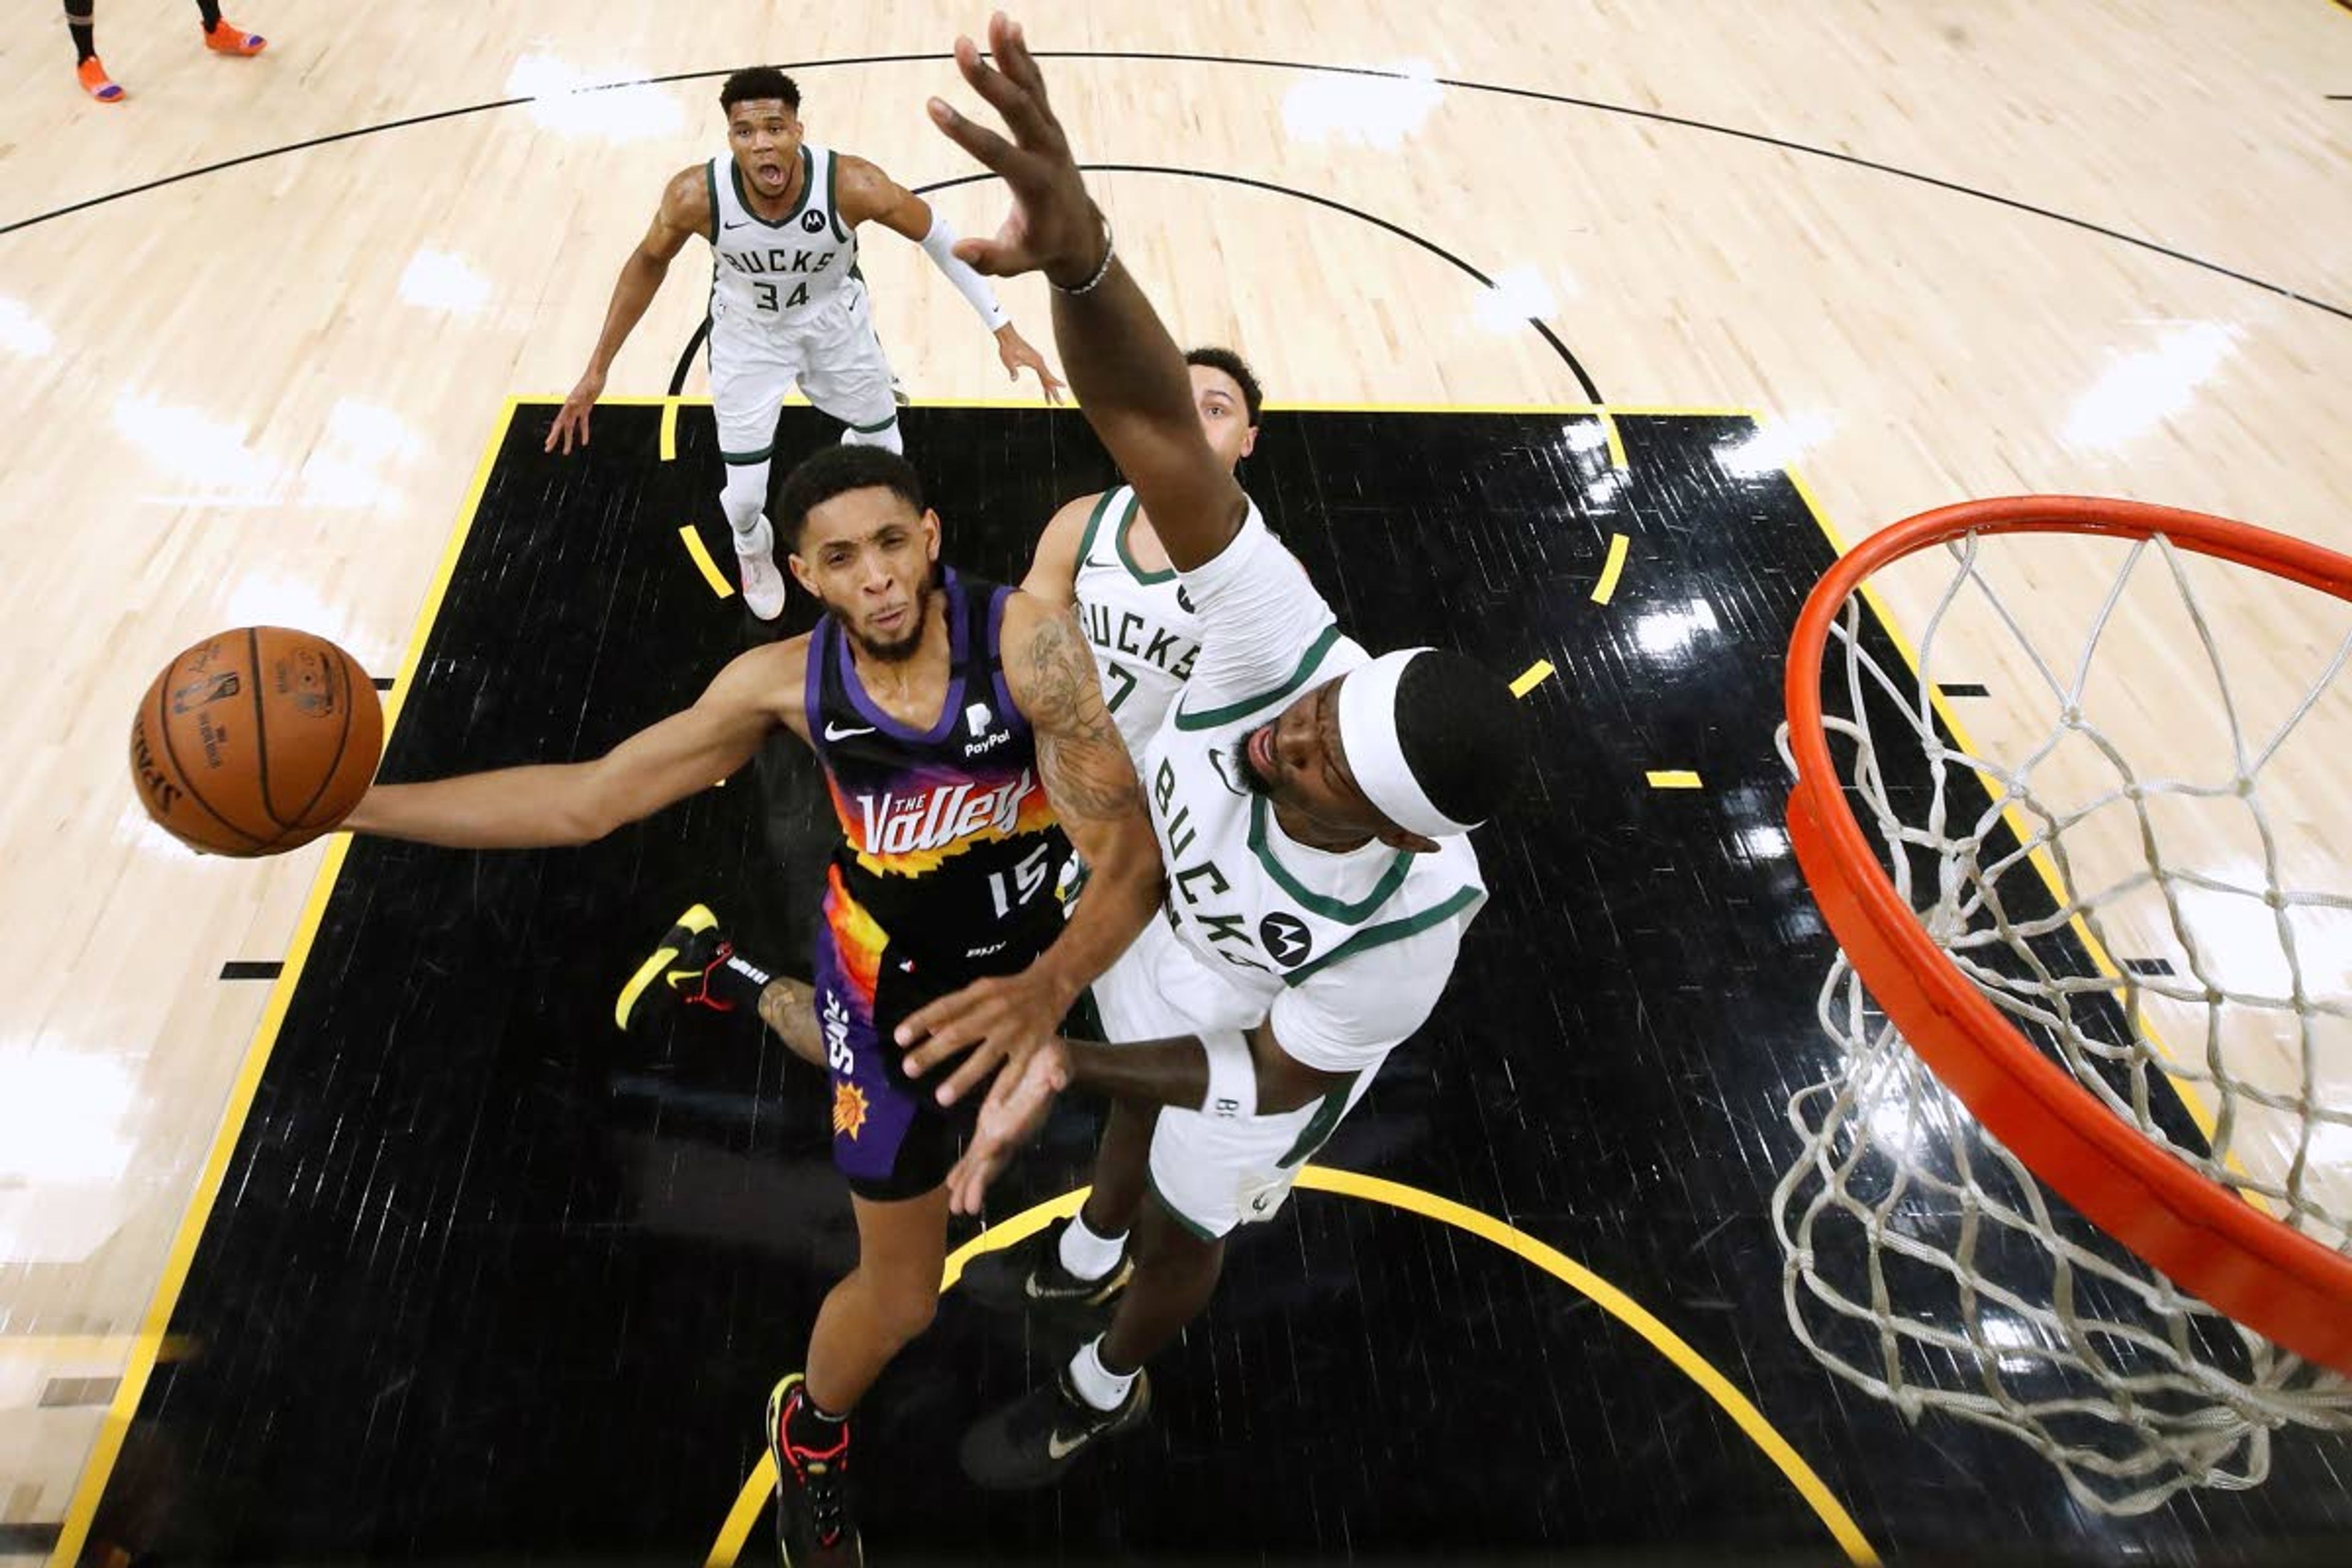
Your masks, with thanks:
[{"label": "pale wooden basketball court floor with black painted lane", "polygon": [[[588,755],[687,701],[755,635],[684,538],[724,541],[703,247],[588,454],[539,451],[555,402],[663,179],[724,148],[731,68],[781,63],[809,139],[993,228],[997,188],[922,115],[964,101],[946,52],[985,14],[230,14],[263,56],[205,54],[181,0],[106,0],[120,106],[80,94],[54,14],[0,42],[0,649],[26,703],[0,785],[0,1559],[764,1554],[760,1396],[847,1237],[814,1079],[748,1037],[619,1041],[597,1009],[696,889],[790,940],[816,827],[788,759],[604,858],[233,863],[146,823],[122,736],[169,654],[247,623],[388,684],[405,778]],[[924,1467],[1051,1347],[943,1312],[877,1392],[906,1495],[877,1561],[2336,1561],[2340,1434],[2279,1434],[2258,1490],[2103,1519],[1792,1340],[1769,1199],[1828,945],[1773,726],[1804,590],[1933,505],[2140,498],[2352,552],[2352,12],[1122,0],[1025,24],[1176,336],[1265,381],[1244,482],[1282,496],[1343,623],[1524,670],[1548,750],[1482,839],[1510,896],[1451,1011],[1237,1248],[1160,1434],[1061,1502],[967,1495]],[[868,230],[863,270],[950,552],[1016,574],[1098,454],[1007,386],[915,247]],[[1004,301],[1051,357],[1044,287]],[[804,409],[786,435],[830,440]],[[2065,663],[2110,585],[2110,552],[2053,538],[2009,555],[2016,625],[1943,625],[1978,741],[2042,736],[2020,646]],[[2246,724],[2277,722],[2343,607],[2199,585]],[[1917,637],[1943,581],[1882,590]],[[2225,757],[2178,607],[2126,604],[2100,668],[2103,733],[2147,769]],[[2263,780],[2277,844],[2180,832],[2345,893],[2345,755],[2338,682]],[[2161,907],[2117,922],[2117,961],[2187,964]],[[2246,910],[2190,924],[2272,980]],[[2352,1001],[2352,912],[2298,940],[2312,997]],[[2336,1046],[2312,1081],[2343,1114]],[[2234,1070],[2300,1070],[2265,1048]],[[1044,1222],[1082,1171],[1087,1121],[1065,1131],[993,1220]],[[2343,1201],[2338,1133],[2256,1119],[2234,1150]],[[593,1441],[550,1439],[555,1413]]]}]

